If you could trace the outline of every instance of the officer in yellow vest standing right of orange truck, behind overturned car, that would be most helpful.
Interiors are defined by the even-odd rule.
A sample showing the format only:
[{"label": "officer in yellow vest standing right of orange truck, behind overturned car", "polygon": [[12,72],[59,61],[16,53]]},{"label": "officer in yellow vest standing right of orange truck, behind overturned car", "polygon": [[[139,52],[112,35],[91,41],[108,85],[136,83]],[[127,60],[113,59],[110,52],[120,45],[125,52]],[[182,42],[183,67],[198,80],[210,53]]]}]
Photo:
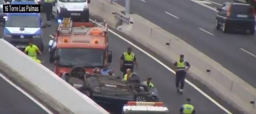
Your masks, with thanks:
[{"label": "officer in yellow vest standing right of orange truck, behind overturned car", "polygon": [[136,68],[138,69],[136,57],[131,51],[132,48],[128,47],[127,52],[124,52],[121,56],[120,70],[124,73],[123,76],[126,74],[126,69],[131,69],[131,72],[133,72],[134,63]]}]

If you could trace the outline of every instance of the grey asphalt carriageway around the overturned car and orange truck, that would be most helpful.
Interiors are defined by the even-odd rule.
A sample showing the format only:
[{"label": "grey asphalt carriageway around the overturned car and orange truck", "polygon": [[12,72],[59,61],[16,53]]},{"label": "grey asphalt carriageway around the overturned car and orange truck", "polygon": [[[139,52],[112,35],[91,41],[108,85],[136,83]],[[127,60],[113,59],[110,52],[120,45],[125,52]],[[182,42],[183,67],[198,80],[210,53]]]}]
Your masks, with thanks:
[{"label": "grey asphalt carriageway around the overturned car and orange truck", "polygon": [[[45,15],[42,15],[42,17],[45,17]],[[43,55],[39,57],[44,62],[43,65],[52,71],[54,66],[53,64],[49,63],[47,44],[49,40],[52,39],[49,37],[49,35],[52,35],[55,32],[56,27],[56,21],[52,20],[52,27],[44,29],[43,43],[45,46],[45,51],[43,52]],[[122,74],[119,72],[119,58],[121,54],[126,51],[128,46],[129,44],[127,42],[109,33],[109,50],[111,50],[113,53],[113,62],[110,68],[116,72],[116,75],[120,76]],[[165,69],[159,63],[155,62],[153,59],[140,52],[139,50],[134,48],[133,52],[136,54],[139,63],[139,68],[138,70],[135,70],[135,72],[140,75],[141,80],[146,80],[147,76],[152,77],[152,80],[157,87],[158,92],[160,93],[161,100],[168,107],[172,114],[178,114],[180,106],[185,103],[187,98],[192,100],[197,114],[226,114],[223,110],[221,110],[188,84],[185,85],[184,94],[182,96],[177,94],[175,90],[173,73]],[[235,112],[235,114],[240,114],[236,111],[236,109],[226,103],[224,103],[224,107],[229,107],[230,111]]]}]

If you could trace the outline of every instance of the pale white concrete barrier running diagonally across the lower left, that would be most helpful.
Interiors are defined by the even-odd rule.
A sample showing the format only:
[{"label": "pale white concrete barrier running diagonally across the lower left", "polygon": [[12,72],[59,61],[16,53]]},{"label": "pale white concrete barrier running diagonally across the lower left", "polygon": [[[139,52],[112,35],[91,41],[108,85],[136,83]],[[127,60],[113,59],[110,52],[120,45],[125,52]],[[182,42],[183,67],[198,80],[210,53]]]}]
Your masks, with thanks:
[{"label": "pale white concrete barrier running diagonally across the lower left", "polygon": [[[74,114],[108,114],[89,97],[70,86],[45,66],[36,63],[13,45],[0,39],[0,60],[15,69],[32,86],[48,94]],[[19,77],[17,77],[19,78]]]}]

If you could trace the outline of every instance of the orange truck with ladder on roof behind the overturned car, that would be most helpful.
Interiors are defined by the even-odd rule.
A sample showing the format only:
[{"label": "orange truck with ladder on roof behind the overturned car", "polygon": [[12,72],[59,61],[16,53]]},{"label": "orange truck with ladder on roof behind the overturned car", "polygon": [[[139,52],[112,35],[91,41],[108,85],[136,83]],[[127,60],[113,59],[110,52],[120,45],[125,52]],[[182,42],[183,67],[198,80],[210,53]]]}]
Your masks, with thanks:
[{"label": "orange truck with ladder on roof behind the overturned car", "polygon": [[63,18],[53,40],[49,41],[50,62],[55,64],[55,73],[62,76],[76,65],[83,66],[87,73],[94,68],[105,68],[112,62],[108,50],[108,29],[95,23],[72,22]]}]

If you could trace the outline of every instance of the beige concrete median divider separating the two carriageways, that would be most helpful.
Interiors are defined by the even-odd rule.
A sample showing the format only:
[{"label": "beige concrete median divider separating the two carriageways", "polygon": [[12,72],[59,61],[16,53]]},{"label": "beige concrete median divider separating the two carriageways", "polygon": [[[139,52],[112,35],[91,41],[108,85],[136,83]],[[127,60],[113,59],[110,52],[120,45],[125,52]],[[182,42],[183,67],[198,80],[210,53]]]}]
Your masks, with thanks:
[{"label": "beige concrete median divider separating the two carriageways", "polygon": [[[184,54],[186,61],[191,63],[191,69],[188,72],[190,76],[200,80],[228,103],[243,111],[244,114],[256,114],[256,108],[251,104],[251,101],[256,101],[256,89],[207,55],[137,14],[128,15],[132,24],[122,23],[119,26],[120,20],[118,21],[113,11],[121,12],[124,8],[116,3],[111,3],[108,0],[93,0],[89,7],[93,17],[106,20],[112,27],[140,42],[171,63],[177,61],[180,54]],[[104,11],[101,7],[104,7]],[[104,14],[99,13],[101,11]]]}]

